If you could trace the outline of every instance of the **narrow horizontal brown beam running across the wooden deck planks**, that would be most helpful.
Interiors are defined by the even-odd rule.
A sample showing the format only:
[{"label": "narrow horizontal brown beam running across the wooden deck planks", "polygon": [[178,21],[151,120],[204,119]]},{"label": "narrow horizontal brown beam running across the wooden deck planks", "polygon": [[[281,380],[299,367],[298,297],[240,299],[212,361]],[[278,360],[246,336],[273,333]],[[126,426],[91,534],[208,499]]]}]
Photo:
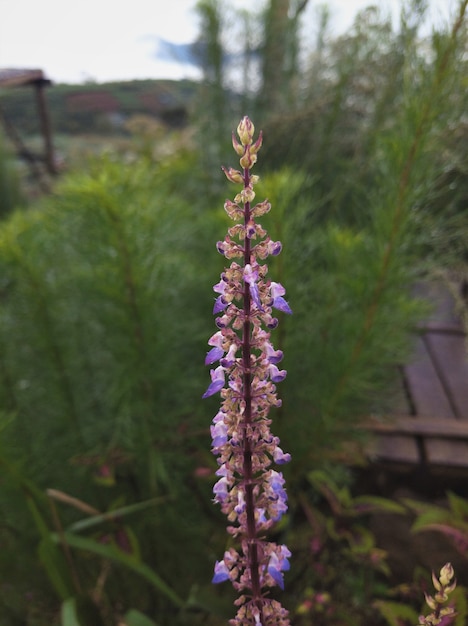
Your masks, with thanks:
[{"label": "narrow horizontal brown beam running across the wooden deck planks", "polygon": [[430,417],[422,419],[414,416],[398,415],[389,417],[385,421],[373,418],[366,423],[365,427],[382,435],[408,434],[432,439],[468,440],[468,421],[465,420]]}]

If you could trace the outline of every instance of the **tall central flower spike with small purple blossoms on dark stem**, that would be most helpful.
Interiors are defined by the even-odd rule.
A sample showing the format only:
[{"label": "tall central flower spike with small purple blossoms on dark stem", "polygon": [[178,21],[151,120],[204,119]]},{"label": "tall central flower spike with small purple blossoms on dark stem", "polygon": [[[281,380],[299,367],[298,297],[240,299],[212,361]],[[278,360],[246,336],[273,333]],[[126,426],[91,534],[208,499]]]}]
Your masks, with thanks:
[{"label": "tall central flower spike with small purple blossoms on dark stem", "polygon": [[220,392],[222,398],[211,426],[212,451],[219,465],[213,493],[238,548],[230,548],[216,562],[213,582],[230,580],[241,594],[232,626],[286,626],[287,611],[267,594],[271,587],[283,588],[290,552],[285,545],[268,541],[266,533],[287,510],[284,478],[272,465],[287,463],[290,455],[272,435],[268,414],[271,407],[281,405],[276,384],[286,377],[279,367],[283,353],[270,341],[278,324],[274,315],[275,311],[289,314],[291,309],[284,287],[267,279],[268,267],[262,263],[281,252],[281,243],[272,241],[257,222],[270,210],[270,203],[252,205],[258,176],[250,170],[262,135],[253,140],[254,126],[248,117],[241,120],[237,133],[240,143],[233,134],[233,147],[242,171],[223,170],[242,189],[234,202],[226,200],[224,205],[237,223],[217,243],[231,264],[214,286],[218,330],[208,341],[211,349],[205,363],[214,367],[203,397]]}]

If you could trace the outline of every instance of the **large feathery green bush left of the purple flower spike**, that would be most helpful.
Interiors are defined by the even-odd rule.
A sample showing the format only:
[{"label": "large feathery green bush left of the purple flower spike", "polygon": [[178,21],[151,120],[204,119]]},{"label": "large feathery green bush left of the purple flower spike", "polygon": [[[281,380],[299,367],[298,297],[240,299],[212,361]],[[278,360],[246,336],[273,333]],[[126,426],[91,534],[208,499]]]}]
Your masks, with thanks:
[{"label": "large feathery green bush left of the purple flower spike", "polygon": [[[101,511],[118,499],[120,516],[133,507],[132,529],[145,537],[151,566],[127,562],[118,551],[114,556],[159,585],[158,597],[164,596],[162,578],[170,581],[169,598],[184,597],[194,576],[210,578],[210,530],[193,471],[198,451],[209,446],[200,355],[211,296],[200,289],[212,281],[205,259],[217,220],[203,198],[171,189],[167,167],[101,161],[90,173],[65,179],[40,208],[15,213],[0,233],[1,449],[2,463],[12,467],[0,510],[13,532],[9,543],[22,546],[18,575],[28,578],[30,570],[35,584],[35,549],[23,550],[42,537],[40,560],[50,581],[61,581],[54,586],[62,598],[73,586],[56,574],[68,566],[57,561],[63,555],[51,543],[49,515],[36,493],[49,487]],[[26,489],[31,478],[38,485],[29,498],[33,517],[20,494],[11,497],[18,482]],[[154,513],[137,510],[154,496],[166,498]],[[70,509],[63,519],[79,526]],[[97,549],[101,544],[89,536],[96,528],[89,523],[83,530],[88,552]],[[67,539],[75,551],[78,538]],[[101,557],[110,558],[107,552]],[[96,584],[98,560],[77,559],[80,575]],[[10,568],[7,553],[1,575],[13,581]],[[155,615],[172,610],[170,599],[169,605],[151,599],[138,577],[124,584],[118,569],[109,587],[130,606],[138,597]]]}]

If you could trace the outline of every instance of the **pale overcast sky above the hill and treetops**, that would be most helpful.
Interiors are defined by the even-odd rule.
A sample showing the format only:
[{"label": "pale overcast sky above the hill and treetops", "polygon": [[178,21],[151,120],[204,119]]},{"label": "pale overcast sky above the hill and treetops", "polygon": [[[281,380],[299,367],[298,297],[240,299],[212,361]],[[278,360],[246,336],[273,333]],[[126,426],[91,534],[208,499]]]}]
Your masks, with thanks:
[{"label": "pale overcast sky above the hill and treetops", "polygon": [[[309,0],[307,19],[323,0]],[[236,8],[259,0],[231,0]],[[335,34],[372,0],[329,0]],[[398,15],[400,0],[373,4]],[[431,22],[447,20],[456,0],[430,0]],[[158,40],[195,41],[196,0],[0,0],[0,68],[42,69],[55,83],[197,78],[190,64],[158,58]]]}]

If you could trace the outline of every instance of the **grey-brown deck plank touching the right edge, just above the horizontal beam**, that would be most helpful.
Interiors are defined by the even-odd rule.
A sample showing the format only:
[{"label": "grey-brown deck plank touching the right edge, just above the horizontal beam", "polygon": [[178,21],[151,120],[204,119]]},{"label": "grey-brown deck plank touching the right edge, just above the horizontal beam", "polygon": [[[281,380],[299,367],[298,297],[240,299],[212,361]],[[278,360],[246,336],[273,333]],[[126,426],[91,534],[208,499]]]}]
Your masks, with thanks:
[{"label": "grey-brown deck plank touching the right edge, just above the horizontal beam", "polygon": [[468,353],[465,337],[428,333],[425,342],[455,417],[468,420]]}]

